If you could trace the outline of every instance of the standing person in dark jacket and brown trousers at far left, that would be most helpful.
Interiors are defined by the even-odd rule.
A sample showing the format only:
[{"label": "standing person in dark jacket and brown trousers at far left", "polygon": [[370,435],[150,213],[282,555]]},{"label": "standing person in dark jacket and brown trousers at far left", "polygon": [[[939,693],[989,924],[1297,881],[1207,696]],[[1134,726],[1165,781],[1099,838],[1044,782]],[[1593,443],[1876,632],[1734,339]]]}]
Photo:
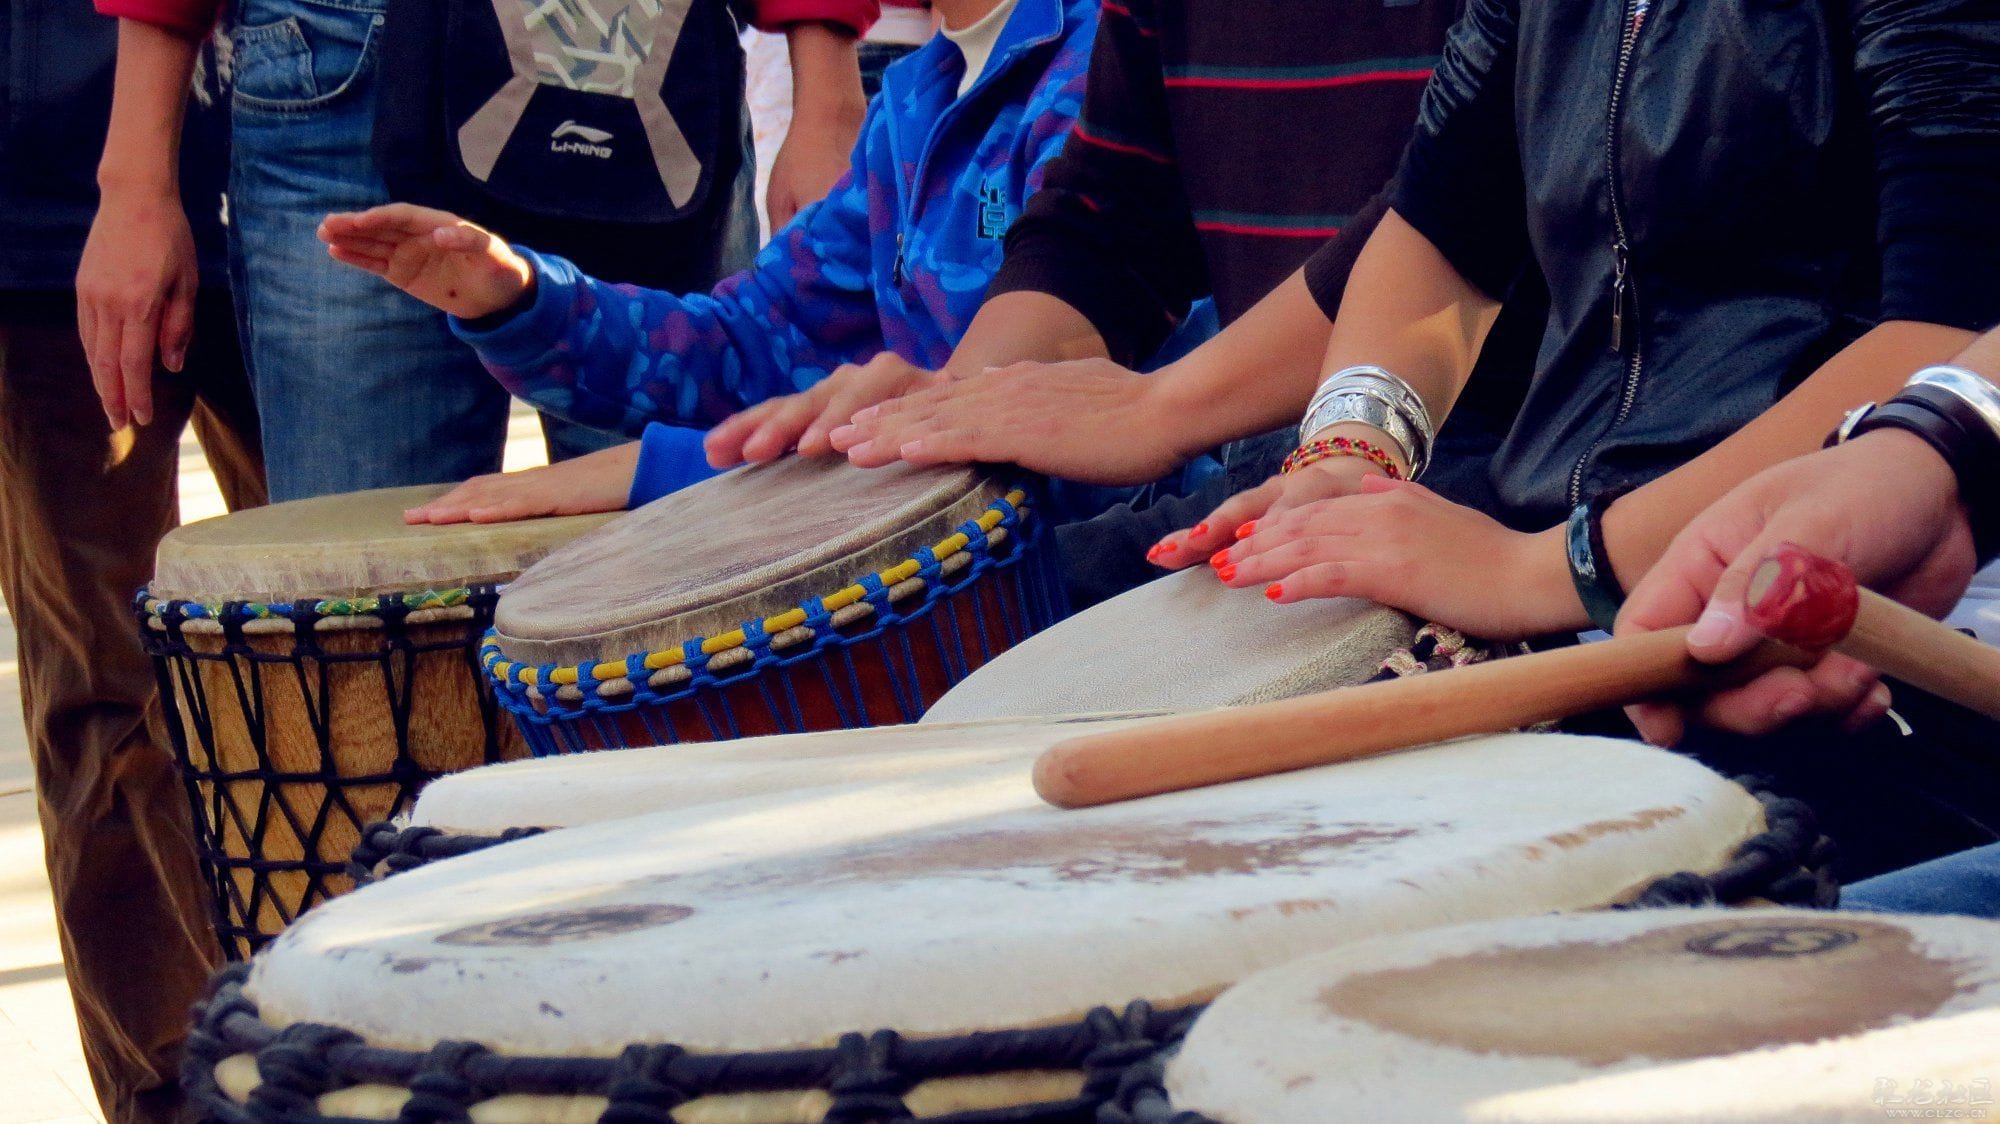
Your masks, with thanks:
[{"label": "standing person in dark jacket and brown trousers at far left", "polygon": [[[188,798],[130,606],[154,546],[176,524],[180,434],[190,420],[230,508],[264,500],[256,410],[226,288],[226,120],[196,112],[184,132],[182,98],[142,116],[136,104],[114,108],[116,26],[86,6],[10,0],[8,16],[0,28],[0,104],[10,110],[0,122],[0,592],[18,630],[28,752],[84,1062],[106,1118],[166,1122],[180,1116],[180,1040],[216,938]],[[86,250],[86,234],[112,114],[130,134],[180,152],[178,178],[172,158],[96,168],[130,202],[118,222],[170,218],[178,230],[144,278],[104,294],[118,308],[172,294],[152,318],[158,348],[144,350],[132,382],[150,422],[140,428],[126,424],[130,410],[118,420],[100,410],[82,340],[102,338],[104,324],[80,320],[70,288],[78,260],[104,252]]]}]

